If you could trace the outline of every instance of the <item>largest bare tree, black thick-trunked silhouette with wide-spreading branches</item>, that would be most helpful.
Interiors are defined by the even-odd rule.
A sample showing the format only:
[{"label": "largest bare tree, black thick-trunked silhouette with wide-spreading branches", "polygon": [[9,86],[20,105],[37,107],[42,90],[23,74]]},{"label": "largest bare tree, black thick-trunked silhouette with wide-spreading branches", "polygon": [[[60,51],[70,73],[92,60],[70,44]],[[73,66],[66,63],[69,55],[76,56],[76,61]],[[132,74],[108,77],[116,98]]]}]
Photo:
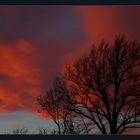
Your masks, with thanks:
[{"label": "largest bare tree, black thick-trunked silhouette with wide-spreading branches", "polygon": [[102,134],[140,127],[140,46],[117,36],[66,67],[66,108],[91,120]]}]

